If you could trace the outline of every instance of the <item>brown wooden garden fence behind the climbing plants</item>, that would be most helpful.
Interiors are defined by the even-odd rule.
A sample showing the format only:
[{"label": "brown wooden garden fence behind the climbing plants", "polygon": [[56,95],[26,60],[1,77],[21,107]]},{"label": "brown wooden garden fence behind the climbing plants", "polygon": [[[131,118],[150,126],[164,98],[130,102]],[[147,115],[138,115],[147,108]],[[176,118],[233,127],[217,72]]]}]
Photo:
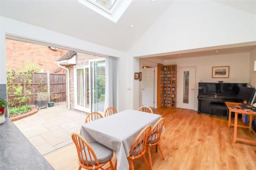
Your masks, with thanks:
[{"label": "brown wooden garden fence behind the climbing plants", "polygon": [[[47,92],[47,73],[35,73],[32,74],[31,83],[27,84],[26,89],[31,91],[31,95],[28,98],[27,104],[34,105],[38,92]],[[24,87],[24,83],[19,77],[13,80],[13,85],[18,86],[20,84]],[[49,74],[49,87],[50,93],[57,95],[56,102],[66,101],[66,80],[65,74]],[[23,88],[24,90],[24,88]],[[23,91],[24,94],[24,91]],[[8,95],[8,101],[14,100],[14,91],[11,91]]]}]

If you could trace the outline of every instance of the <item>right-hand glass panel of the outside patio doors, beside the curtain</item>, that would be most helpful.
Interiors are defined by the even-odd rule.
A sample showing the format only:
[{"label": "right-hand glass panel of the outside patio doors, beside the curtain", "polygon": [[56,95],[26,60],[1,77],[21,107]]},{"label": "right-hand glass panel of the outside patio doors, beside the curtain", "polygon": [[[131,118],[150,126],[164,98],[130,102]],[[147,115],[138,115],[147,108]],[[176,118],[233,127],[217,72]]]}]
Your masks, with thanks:
[{"label": "right-hand glass panel of the outside patio doors, beside the curtain", "polygon": [[92,112],[104,112],[105,61],[91,62]]}]

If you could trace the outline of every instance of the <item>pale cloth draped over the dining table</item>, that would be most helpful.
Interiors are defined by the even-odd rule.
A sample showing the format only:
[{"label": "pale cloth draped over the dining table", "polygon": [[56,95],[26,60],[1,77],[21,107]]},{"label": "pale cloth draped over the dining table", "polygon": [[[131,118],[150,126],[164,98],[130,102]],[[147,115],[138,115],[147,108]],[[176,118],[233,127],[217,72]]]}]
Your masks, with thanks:
[{"label": "pale cloth draped over the dining table", "polygon": [[128,170],[127,156],[131,145],[147,125],[153,127],[161,116],[134,110],[126,110],[83,124],[81,135],[87,142],[99,142],[112,149],[117,155],[117,169]]}]

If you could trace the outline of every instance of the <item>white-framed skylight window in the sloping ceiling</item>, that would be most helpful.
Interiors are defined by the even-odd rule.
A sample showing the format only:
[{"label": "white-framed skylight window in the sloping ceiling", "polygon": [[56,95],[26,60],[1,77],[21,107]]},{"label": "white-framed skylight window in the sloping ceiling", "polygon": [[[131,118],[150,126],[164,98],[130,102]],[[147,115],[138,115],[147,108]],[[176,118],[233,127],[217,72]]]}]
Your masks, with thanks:
[{"label": "white-framed skylight window in the sloping ceiling", "polygon": [[102,16],[117,22],[132,0],[78,0]]}]

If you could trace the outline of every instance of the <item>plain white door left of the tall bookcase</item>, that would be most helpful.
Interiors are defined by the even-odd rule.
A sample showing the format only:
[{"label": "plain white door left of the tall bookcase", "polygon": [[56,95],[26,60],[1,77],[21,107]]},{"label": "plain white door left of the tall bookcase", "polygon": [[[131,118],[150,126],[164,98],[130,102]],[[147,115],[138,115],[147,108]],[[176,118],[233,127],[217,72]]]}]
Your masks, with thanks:
[{"label": "plain white door left of the tall bookcase", "polygon": [[154,107],[155,68],[142,69],[142,105]]}]

